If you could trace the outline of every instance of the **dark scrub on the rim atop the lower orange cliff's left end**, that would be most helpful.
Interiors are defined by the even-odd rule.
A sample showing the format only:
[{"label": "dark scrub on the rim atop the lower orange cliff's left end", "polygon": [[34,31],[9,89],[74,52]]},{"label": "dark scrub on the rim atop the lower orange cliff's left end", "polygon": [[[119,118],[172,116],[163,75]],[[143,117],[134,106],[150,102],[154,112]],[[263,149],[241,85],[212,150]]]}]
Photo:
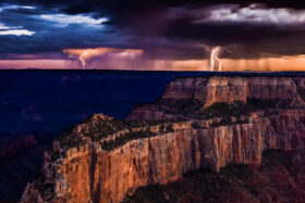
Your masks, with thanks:
[{"label": "dark scrub on the rim atop the lower orange cliff's left end", "polygon": [[[100,141],[101,148],[111,151],[129,141],[142,138],[150,138],[157,134],[150,131],[150,127],[159,127],[160,134],[173,132],[172,122],[154,122],[154,120],[115,120],[115,119],[98,119],[88,118],[82,122],[75,128],[64,130],[62,136],[57,138],[62,148],[74,148],[84,144],[83,137],[90,138],[93,141]],[[134,130],[136,129],[136,131]],[[112,138],[120,130],[121,136]],[[109,138],[108,141],[103,138]],[[58,158],[60,154],[53,154],[52,160]]]}]

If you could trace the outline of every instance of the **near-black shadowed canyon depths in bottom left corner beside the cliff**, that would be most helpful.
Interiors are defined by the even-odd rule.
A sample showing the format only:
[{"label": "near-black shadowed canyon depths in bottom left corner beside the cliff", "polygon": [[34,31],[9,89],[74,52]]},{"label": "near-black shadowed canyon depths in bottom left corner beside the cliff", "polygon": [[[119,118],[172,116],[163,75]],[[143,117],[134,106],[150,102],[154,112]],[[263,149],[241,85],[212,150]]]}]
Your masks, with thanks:
[{"label": "near-black shadowed canyon depths in bottom left corner beside the cliff", "polygon": [[[32,135],[0,139],[0,202],[17,202],[42,164],[44,144]],[[21,169],[22,168],[22,169]]]}]

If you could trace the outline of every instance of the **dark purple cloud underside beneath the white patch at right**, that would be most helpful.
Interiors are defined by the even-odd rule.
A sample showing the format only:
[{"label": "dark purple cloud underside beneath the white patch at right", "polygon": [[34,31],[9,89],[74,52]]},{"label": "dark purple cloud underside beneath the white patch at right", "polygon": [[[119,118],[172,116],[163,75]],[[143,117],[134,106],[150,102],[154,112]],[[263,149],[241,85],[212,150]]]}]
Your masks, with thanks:
[{"label": "dark purple cloud underside beneath the white patch at right", "polygon": [[164,36],[180,41],[192,39],[210,47],[228,47],[234,51],[234,54],[227,53],[228,58],[304,54],[305,46],[304,30],[286,29],[276,25],[194,25],[188,21],[174,21],[169,25]]}]

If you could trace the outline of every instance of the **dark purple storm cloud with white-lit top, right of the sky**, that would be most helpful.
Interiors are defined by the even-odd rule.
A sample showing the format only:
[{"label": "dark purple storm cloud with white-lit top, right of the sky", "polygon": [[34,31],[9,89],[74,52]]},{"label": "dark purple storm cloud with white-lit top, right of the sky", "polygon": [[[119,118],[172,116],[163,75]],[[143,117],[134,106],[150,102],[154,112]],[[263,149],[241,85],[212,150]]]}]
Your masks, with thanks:
[{"label": "dark purple storm cloud with white-lit top, right of the sky", "polygon": [[231,48],[234,54],[228,52],[228,58],[305,53],[304,10],[274,9],[264,4],[221,4],[172,12],[183,17],[171,21],[164,36]]}]

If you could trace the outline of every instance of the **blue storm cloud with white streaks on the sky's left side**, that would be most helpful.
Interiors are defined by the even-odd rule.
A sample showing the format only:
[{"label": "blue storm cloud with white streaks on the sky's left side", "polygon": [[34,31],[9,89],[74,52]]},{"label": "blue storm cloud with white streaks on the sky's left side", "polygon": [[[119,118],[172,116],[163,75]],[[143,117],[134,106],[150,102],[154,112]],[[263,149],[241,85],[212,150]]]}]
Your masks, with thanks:
[{"label": "blue storm cloud with white streaks on the sky's left side", "polygon": [[[63,48],[105,46],[119,31],[105,27],[107,18],[87,15],[66,15],[36,8],[14,8],[4,4],[0,14],[1,58],[13,54],[61,52]],[[8,9],[9,8],[9,9]],[[27,10],[24,14],[24,10]],[[21,31],[22,30],[22,31]],[[5,35],[10,31],[10,35]],[[26,31],[30,31],[27,35]],[[120,45],[122,38],[115,43]],[[115,45],[113,43],[113,45]]]}]

